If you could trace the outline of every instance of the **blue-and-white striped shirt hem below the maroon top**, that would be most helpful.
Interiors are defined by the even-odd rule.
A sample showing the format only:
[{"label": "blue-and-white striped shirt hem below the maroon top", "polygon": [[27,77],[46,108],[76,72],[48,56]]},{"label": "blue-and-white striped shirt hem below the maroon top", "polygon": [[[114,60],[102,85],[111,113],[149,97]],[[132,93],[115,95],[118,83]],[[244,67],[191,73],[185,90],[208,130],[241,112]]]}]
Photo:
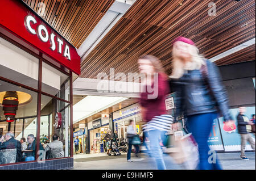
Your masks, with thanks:
[{"label": "blue-and-white striped shirt hem below the maroon top", "polygon": [[170,131],[171,124],[174,123],[172,115],[160,115],[154,116],[151,121],[148,121],[147,124],[142,125],[143,131],[151,131],[158,129],[159,131]]}]

